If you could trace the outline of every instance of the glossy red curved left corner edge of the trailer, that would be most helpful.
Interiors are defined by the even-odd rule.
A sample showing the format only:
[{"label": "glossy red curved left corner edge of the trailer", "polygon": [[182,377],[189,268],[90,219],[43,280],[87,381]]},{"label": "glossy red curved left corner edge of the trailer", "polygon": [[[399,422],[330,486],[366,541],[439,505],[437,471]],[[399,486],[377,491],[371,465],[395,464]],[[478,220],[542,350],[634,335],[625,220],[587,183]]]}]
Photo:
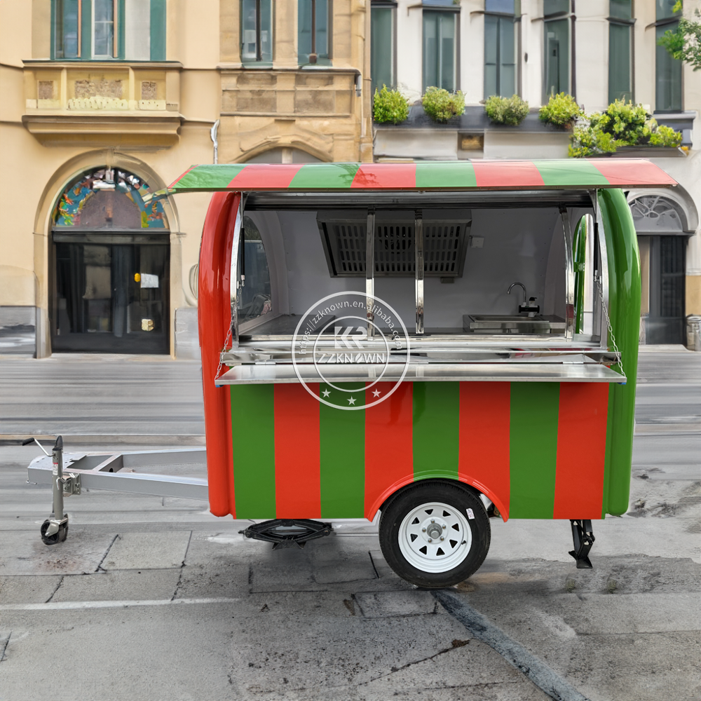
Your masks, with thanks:
[{"label": "glossy red curved left corner edge of the trailer", "polygon": [[215,387],[215,379],[219,351],[224,347],[231,325],[231,302],[227,298],[231,242],[239,198],[238,193],[217,192],[210,200],[200,245],[197,306],[210,511],[215,516],[231,514],[234,518],[236,501],[231,448],[231,398],[228,387]]}]

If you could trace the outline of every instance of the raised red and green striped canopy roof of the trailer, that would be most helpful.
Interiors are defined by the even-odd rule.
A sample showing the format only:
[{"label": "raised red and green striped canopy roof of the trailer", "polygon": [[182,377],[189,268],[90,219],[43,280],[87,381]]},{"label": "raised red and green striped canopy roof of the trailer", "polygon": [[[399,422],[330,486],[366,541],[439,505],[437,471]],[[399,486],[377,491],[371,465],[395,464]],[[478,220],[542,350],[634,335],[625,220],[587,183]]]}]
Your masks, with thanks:
[{"label": "raised red and green striped canopy roof of the trailer", "polygon": [[191,191],[539,190],[672,186],[650,161],[420,161],[193,165],[168,189]]}]

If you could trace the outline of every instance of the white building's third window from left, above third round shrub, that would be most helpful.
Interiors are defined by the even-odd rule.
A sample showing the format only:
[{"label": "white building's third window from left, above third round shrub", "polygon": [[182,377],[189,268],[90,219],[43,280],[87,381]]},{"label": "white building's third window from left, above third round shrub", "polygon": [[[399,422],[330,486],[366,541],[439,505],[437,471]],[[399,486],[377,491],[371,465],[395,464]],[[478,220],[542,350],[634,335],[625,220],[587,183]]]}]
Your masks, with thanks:
[{"label": "white building's third window from left, above third round shrub", "polygon": [[518,92],[517,16],[520,0],[484,3],[484,97]]}]

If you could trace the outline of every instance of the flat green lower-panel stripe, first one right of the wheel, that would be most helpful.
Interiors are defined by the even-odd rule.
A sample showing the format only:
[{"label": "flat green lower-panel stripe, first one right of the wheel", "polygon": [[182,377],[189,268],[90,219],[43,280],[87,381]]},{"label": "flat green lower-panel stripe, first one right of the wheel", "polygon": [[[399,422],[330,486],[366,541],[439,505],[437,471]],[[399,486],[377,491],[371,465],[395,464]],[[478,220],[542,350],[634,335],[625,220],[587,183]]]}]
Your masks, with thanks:
[{"label": "flat green lower-panel stripe, first one right of the wheel", "polygon": [[559,394],[557,382],[511,383],[510,518],[552,519]]}]

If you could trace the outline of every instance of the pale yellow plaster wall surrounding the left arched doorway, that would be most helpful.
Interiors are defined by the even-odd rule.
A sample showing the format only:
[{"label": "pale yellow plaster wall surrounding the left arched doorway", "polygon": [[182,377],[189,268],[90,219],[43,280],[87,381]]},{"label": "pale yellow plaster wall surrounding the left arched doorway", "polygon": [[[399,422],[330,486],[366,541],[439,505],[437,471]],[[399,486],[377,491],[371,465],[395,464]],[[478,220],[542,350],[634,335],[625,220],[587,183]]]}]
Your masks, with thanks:
[{"label": "pale yellow plaster wall surrounding the left arched doorway", "polygon": [[[167,57],[182,65],[174,64],[165,77],[168,99],[177,96],[176,111],[158,114],[177,117],[177,130],[168,137],[172,145],[154,146],[149,135],[135,135],[145,114],[149,118],[158,114],[133,110],[118,114],[123,127],[116,135],[100,137],[100,128],[114,118],[114,113],[97,109],[90,114],[80,113],[86,124],[83,135],[74,129],[73,133],[61,133],[60,128],[51,126],[52,120],[59,124],[71,119],[81,123],[80,119],[76,121],[76,113],[57,104],[47,119],[48,113],[44,114],[36,103],[37,70],[48,71],[58,85],[65,80],[60,62],[48,62],[50,9],[50,0],[0,2],[0,207],[4,212],[0,219],[0,307],[39,308],[39,356],[50,353],[50,219],[64,187],[88,168],[111,165],[135,172],[157,189],[170,184],[194,163],[211,163],[210,129],[219,118],[221,95],[217,70],[219,1],[168,0]],[[46,69],[24,63],[30,59],[46,61]],[[96,69],[91,62],[70,66],[72,70],[84,68],[97,73],[110,70]],[[125,63],[115,62],[112,69],[124,72]],[[32,121],[37,135],[28,130]],[[48,132],[39,133],[45,127]],[[207,193],[198,193],[170,198],[165,205],[171,230],[171,336],[175,308],[196,304],[188,273],[198,260],[209,200]]]}]

